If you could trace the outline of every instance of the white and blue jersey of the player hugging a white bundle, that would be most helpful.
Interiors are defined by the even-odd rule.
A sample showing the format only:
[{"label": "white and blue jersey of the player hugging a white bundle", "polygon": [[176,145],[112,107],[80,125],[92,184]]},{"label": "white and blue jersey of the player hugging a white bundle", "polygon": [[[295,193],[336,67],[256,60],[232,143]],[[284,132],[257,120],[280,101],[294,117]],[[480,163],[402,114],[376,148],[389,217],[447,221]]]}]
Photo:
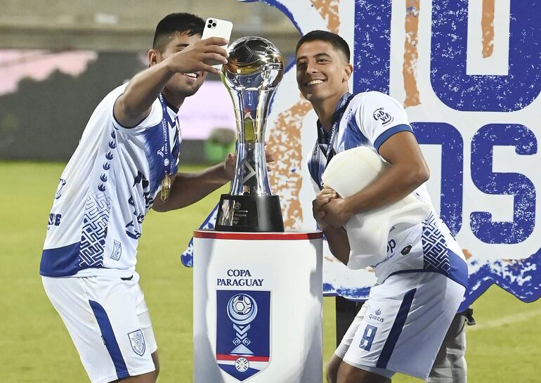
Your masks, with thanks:
[{"label": "white and blue jersey of the player hugging a white bundle", "polygon": [[[365,146],[379,153],[381,145],[393,134],[412,132],[402,105],[377,91],[344,94],[337,105],[333,125],[336,137],[326,134],[318,122],[318,142],[308,159],[308,170],[318,189],[322,188],[321,177],[331,157],[327,160],[325,155],[328,145],[332,144],[332,152]],[[420,186],[413,194],[429,204],[431,212],[424,222],[416,226],[391,228],[386,258],[373,265],[378,283],[397,273],[428,271],[441,273],[461,285],[467,285],[464,254],[434,211],[426,187]]]}]

